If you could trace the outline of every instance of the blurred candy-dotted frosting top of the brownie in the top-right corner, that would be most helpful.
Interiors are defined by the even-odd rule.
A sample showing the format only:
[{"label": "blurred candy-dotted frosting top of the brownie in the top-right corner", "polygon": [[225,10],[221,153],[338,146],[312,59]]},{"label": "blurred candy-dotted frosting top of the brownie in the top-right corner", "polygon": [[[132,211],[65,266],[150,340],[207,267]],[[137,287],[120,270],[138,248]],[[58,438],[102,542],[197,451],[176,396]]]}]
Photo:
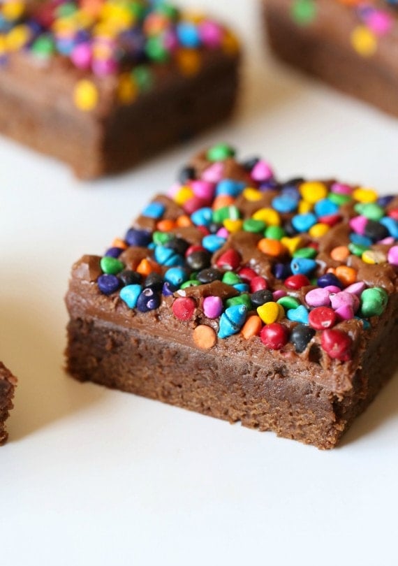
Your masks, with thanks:
[{"label": "blurred candy-dotted frosting top of the brownie in the top-right corner", "polygon": [[[264,3],[286,10],[302,29],[334,36],[360,57],[390,63],[396,59],[389,40],[398,37],[397,0],[264,0]],[[346,17],[342,19],[344,13]]]}]

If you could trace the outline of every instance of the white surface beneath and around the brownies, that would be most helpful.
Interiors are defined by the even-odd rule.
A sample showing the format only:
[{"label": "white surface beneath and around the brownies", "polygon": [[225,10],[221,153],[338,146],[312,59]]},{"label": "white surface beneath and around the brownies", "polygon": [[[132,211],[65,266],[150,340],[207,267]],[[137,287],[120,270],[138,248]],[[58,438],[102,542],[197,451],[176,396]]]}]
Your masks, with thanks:
[{"label": "white surface beneath and around the brownies", "polygon": [[0,449],[1,565],[398,564],[397,378],[323,452],[64,374],[71,264],[123,235],[203,145],[229,140],[281,177],[397,191],[397,120],[272,62],[255,0],[201,4],[246,45],[227,126],[91,184],[0,138],[0,359],[20,378]]}]

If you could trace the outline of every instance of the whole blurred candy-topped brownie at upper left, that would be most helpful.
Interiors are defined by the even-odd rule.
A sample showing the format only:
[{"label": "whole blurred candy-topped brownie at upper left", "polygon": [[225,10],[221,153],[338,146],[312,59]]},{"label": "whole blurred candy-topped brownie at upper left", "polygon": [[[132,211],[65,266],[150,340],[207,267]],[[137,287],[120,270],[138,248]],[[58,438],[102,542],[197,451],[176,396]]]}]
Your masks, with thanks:
[{"label": "whole blurred candy-topped brownie at upper left", "polygon": [[231,31],[165,1],[0,3],[0,132],[90,179],[226,119]]}]

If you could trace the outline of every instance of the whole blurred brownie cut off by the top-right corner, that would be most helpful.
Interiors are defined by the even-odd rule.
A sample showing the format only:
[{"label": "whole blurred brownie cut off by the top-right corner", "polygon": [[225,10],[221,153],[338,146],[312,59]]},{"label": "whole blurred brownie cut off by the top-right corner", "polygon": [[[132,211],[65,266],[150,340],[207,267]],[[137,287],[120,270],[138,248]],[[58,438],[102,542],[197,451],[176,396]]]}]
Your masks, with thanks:
[{"label": "whole blurred brownie cut off by the top-right corner", "polygon": [[398,116],[395,0],[262,0],[286,63]]}]

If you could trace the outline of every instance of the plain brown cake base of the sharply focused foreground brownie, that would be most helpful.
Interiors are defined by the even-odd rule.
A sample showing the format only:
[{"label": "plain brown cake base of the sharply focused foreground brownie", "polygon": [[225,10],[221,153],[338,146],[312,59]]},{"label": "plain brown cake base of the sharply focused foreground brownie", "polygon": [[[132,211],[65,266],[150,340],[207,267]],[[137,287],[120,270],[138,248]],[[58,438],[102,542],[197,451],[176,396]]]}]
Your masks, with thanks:
[{"label": "plain brown cake base of the sharply focused foreground brownie", "polygon": [[[391,324],[369,351],[344,397],[289,375],[276,362],[264,368],[249,359],[214,356],[172,340],[91,319],[68,325],[67,369],[80,381],[161,400],[281,437],[334,447],[355,416],[392,375],[397,355]],[[397,331],[397,321],[395,321]],[[382,336],[384,340],[382,340]]]}]

